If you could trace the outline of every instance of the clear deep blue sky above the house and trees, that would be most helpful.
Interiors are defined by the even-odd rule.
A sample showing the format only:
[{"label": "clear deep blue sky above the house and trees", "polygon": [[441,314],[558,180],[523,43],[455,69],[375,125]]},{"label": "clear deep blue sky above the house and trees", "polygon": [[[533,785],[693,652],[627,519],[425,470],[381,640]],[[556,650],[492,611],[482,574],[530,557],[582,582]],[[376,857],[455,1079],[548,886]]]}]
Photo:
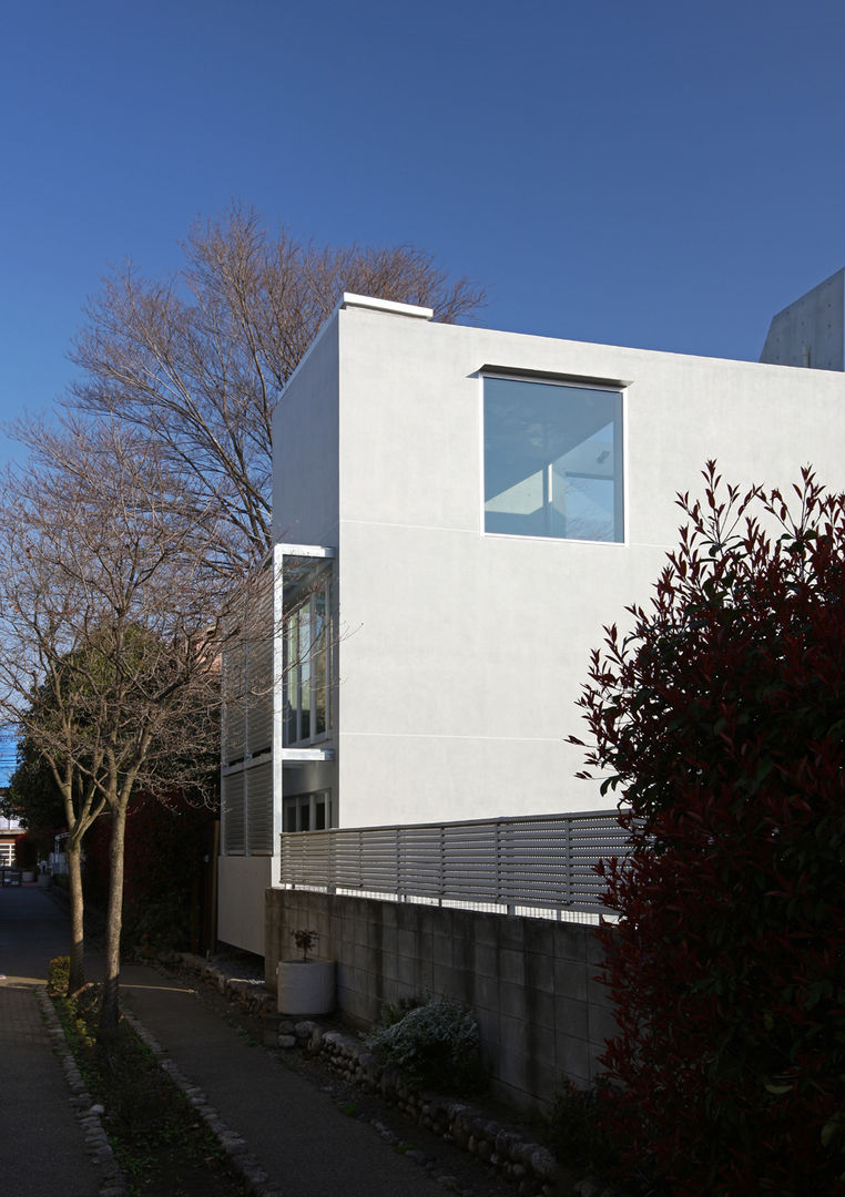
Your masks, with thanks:
[{"label": "clear deep blue sky above the house and trees", "polygon": [[756,358],[845,265],[844,42],[841,0],[6,5],[0,419],[233,199],[427,249],[491,327]]}]

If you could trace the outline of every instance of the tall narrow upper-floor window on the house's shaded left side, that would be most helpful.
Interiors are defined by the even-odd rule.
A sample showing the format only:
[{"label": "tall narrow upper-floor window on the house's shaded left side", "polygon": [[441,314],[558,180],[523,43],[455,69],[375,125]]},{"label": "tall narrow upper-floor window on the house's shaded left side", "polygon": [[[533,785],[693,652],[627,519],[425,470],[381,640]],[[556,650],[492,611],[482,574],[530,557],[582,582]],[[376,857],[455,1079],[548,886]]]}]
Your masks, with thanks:
[{"label": "tall narrow upper-floor window on the house's shaded left side", "polygon": [[285,616],[285,747],[323,740],[332,728],[332,594],[321,582]]}]

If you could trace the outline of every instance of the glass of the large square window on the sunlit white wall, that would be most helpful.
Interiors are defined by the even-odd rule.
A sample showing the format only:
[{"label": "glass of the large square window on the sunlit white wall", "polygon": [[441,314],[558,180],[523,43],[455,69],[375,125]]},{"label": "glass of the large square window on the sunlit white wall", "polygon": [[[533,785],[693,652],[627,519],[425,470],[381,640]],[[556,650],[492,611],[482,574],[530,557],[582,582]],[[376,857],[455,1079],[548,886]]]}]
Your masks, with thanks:
[{"label": "glass of the large square window on the sunlit white wall", "polygon": [[621,541],[621,391],[485,378],[484,486],[487,533]]}]

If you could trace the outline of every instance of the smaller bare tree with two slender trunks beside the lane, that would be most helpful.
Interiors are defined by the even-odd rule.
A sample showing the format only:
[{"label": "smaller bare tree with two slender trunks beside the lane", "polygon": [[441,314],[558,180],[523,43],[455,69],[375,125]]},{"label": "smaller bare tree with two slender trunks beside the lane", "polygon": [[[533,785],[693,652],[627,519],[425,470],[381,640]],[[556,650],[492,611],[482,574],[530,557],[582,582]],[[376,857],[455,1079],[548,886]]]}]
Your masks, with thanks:
[{"label": "smaller bare tree with two slender trunks beside the lane", "polygon": [[81,977],[79,847],[111,815],[102,1022],[117,1019],[127,812],[189,786],[219,724],[226,583],[212,518],[162,446],[114,423],[20,430],[34,450],[0,508],[0,710],[48,760],[71,830],[73,982]]}]

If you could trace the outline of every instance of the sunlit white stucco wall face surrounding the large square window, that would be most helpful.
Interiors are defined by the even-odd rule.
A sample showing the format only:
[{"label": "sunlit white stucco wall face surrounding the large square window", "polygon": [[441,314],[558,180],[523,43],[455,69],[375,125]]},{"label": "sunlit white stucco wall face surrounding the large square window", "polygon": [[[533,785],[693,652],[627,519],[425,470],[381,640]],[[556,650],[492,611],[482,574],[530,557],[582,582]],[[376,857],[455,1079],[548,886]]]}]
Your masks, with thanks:
[{"label": "sunlit white stucco wall face surrounding the large square window", "polygon": [[[845,378],[359,309],[339,324],[339,810],[346,826],[606,806],[575,701],[648,597],[707,457],[845,485]],[[625,545],[482,534],[482,366],[626,379]],[[308,384],[308,372],[299,379]]]}]

